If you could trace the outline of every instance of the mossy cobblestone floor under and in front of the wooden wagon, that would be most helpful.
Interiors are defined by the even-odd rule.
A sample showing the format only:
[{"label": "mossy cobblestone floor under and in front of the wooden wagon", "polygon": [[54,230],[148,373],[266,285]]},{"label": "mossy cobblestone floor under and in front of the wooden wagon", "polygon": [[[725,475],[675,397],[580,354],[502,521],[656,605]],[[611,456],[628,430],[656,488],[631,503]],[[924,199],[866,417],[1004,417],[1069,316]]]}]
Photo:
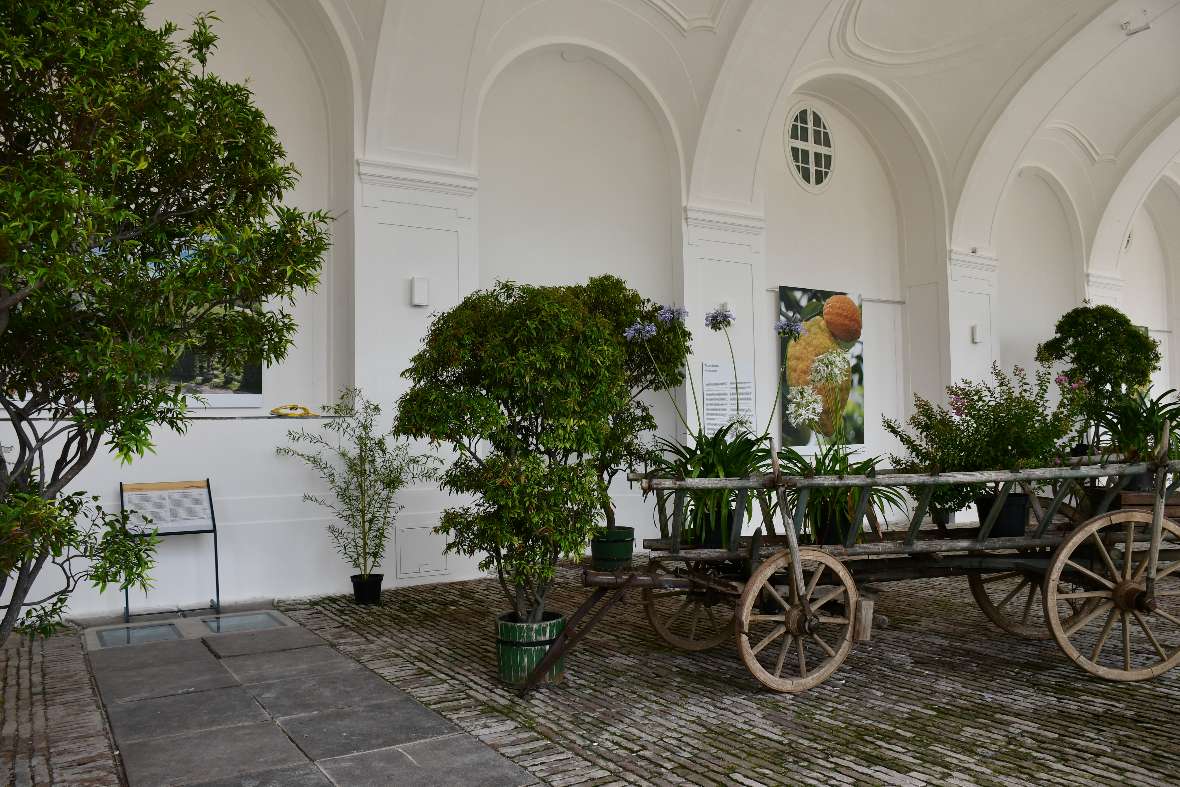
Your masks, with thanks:
[{"label": "mossy cobblestone floor under and in front of the wooden wagon", "polygon": [[[636,595],[518,700],[496,677],[494,581],[284,606],[426,706],[556,785],[1180,783],[1180,670],[1092,678],[1050,642],[991,627],[963,579],[885,586],[887,629],[826,683],[763,690],[733,647],[663,645]],[[552,608],[584,598],[562,572]]]}]

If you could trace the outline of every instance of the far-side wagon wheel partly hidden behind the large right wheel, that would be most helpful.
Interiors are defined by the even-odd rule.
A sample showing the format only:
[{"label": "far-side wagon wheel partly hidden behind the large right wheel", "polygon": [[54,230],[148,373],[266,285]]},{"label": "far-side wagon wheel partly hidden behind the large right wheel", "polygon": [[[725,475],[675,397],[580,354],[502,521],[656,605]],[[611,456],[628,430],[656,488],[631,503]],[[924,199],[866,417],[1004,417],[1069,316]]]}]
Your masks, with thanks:
[{"label": "far-side wagon wheel partly hidden behind the large right wheel", "polygon": [[[999,571],[971,573],[966,578],[971,596],[989,621],[1002,630],[1025,640],[1051,640],[1053,632],[1044,619],[1044,577],[1036,571]],[[1060,593],[1083,590],[1080,585],[1060,583]],[[1069,598],[1073,616],[1088,611],[1096,602],[1092,598]],[[1068,621],[1067,621],[1068,625]]]}]

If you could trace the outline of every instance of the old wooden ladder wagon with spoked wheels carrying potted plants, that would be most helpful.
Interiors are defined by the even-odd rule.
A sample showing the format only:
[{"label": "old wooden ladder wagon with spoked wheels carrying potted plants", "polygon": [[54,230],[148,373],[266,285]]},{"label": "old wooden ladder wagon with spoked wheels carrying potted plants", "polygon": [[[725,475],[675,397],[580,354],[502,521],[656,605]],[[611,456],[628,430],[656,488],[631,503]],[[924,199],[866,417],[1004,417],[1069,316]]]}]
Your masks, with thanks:
[{"label": "old wooden ladder wagon with spoked wheels carrying potted plants", "polygon": [[[1154,505],[1112,511],[1132,479],[1145,473],[1154,480]],[[1094,479],[1106,484],[1082,486]],[[653,628],[668,644],[695,651],[736,640],[739,655],[760,683],[802,691],[824,682],[857,641],[871,636],[873,585],[950,576],[968,578],[976,603],[1001,629],[1053,638],[1079,667],[1100,677],[1141,681],[1180,663],[1180,525],[1165,516],[1175,507],[1180,461],[743,479],[632,474],[631,480],[656,496],[663,536],[643,542],[650,550],[645,566],[583,572],[594,592],[522,694],[630,591],[642,593]],[[957,484],[997,485],[990,513],[977,526],[923,527],[935,490]],[[800,543],[808,496],[833,487],[922,492],[905,530],[874,526],[865,532],[872,511],[870,496],[861,493],[843,544]],[[682,544],[690,496],[709,491],[736,498],[728,549]],[[1025,532],[992,537],[1014,492],[1030,497]],[[795,498],[794,506],[788,497]],[[1084,500],[1089,513],[1080,513],[1070,500]],[[742,536],[754,501],[762,525]],[[775,519],[781,533],[774,532]]]}]

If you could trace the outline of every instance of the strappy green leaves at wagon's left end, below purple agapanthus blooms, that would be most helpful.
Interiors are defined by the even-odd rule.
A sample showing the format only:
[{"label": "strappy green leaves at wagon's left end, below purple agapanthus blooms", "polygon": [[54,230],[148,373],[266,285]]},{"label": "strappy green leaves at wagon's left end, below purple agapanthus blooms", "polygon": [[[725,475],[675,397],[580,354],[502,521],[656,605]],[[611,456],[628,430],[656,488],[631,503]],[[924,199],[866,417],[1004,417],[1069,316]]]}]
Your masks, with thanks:
[{"label": "strappy green leaves at wagon's left end, below purple agapanthus blooms", "polygon": [[[769,472],[769,435],[754,437],[740,424],[729,424],[712,435],[699,428],[688,444],[660,438],[660,452],[653,461],[655,474],[663,478],[748,478]],[[693,490],[687,494],[686,545],[716,544],[728,547],[732,511],[736,490]],[[747,498],[747,513],[753,499]]]}]

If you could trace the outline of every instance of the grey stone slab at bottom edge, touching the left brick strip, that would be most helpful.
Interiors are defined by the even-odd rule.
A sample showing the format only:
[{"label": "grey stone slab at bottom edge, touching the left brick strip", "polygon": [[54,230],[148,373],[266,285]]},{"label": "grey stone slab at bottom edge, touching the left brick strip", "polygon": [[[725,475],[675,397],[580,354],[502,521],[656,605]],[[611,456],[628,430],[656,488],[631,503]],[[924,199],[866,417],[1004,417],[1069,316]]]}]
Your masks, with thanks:
[{"label": "grey stone slab at bottom edge, touching the left brick strip", "polygon": [[120,740],[119,749],[132,787],[191,785],[251,770],[307,765],[299,747],[269,720],[126,743]]}]

